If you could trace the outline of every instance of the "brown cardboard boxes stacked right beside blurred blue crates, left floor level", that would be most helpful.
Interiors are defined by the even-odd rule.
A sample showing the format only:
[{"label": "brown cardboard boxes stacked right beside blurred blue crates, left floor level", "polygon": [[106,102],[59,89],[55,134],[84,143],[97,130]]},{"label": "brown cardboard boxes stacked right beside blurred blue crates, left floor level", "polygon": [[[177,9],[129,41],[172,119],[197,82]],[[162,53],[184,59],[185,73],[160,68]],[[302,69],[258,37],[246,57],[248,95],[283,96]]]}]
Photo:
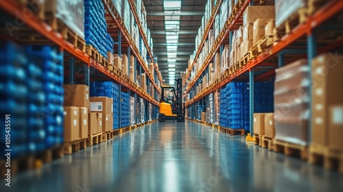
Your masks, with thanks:
[{"label": "brown cardboard boxes stacked right beside blurred blue crates, left floor level", "polygon": [[89,88],[81,84],[65,84],[64,142],[88,137]]}]

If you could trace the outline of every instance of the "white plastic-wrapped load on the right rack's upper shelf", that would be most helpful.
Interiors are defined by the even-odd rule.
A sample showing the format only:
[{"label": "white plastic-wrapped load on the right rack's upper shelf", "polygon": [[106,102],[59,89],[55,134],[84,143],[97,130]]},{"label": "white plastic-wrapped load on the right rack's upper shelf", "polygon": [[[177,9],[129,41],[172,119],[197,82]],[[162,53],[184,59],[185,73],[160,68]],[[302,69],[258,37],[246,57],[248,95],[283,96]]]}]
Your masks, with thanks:
[{"label": "white plastic-wrapped load on the right rack's upper shelf", "polygon": [[279,27],[289,16],[304,8],[307,0],[275,0],[275,26]]}]

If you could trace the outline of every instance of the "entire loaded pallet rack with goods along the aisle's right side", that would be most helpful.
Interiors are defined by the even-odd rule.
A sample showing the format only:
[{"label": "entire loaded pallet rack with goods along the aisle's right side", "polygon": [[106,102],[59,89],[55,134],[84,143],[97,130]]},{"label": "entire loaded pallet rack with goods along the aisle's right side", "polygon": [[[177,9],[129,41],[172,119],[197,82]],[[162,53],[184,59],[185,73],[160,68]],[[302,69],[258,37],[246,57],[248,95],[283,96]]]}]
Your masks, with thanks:
[{"label": "entire loaded pallet rack with goods along the aisle's right side", "polygon": [[[218,2],[223,12],[227,8],[227,1]],[[228,93],[228,86],[236,81],[249,82],[249,90],[246,90],[245,94],[240,93],[242,95],[239,97],[249,96],[246,100],[249,104],[237,105],[243,109],[248,107],[248,113],[244,114],[244,124],[248,126],[246,128],[250,134],[256,133],[254,135],[258,140],[257,144],[286,155],[300,154],[303,159],[309,156],[311,163],[320,163],[323,160],[324,167],[334,168],[335,164],[342,171],[340,156],[343,153],[338,147],[338,144],[342,146],[342,142],[333,138],[333,134],[338,135],[333,128],[342,123],[335,121],[333,116],[341,114],[339,111],[343,102],[338,101],[335,96],[327,97],[329,94],[341,94],[340,88],[335,88],[338,84],[334,82],[341,81],[335,76],[335,72],[342,72],[338,72],[338,67],[333,68],[335,72],[332,72],[326,69],[325,64],[330,58],[331,61],[335,60],[333,65],[340,63],[340,54],[337,52],[342,48],[342,38],[338,38],[342,37],[342,32],[339,32],[335,25],[342,23],[342,1],[235,1],[234,5],[231,16],[226,21],[218,21],[218,17],[223,15],[216,13],[208,26],[204,27],[213,29],[215,36],[215,43],[210,47],[212,51],[209,55],[203,54],[204,49],[209,49],[204,47],[208,35],[198,34],[195,40],[196,51],[191,56],[192,60],[189,60],[192,64],[189,64],[184,80],[187,87],[185,97],[189,98],[186,103],[187,114],[191,118],[201,119],[203,110],[200,111],[198,106],[208,105],[210,94],[220,90],[220,106],[214,109],[220,110],[220,125],[229,126],[229,123],[235,123],[230,119],[234,115],[228,111],[233,108],[227,106],[233,97],[232,93]],[[216,12],[215,9],[213,11]],[[223,27],[223,23],[226,27]],[[323,25],[324,23],[326,24]],[[322,55],[315,58],[320,53]],[[306,57],[307,60],[298,61],[303,63],[303,67],[296,71],[287,71],[287,67],[292,67],[295,60]],[[222,73],[216,73],[218,69],[220,71],[218,64],[222,64]],[[288,66],[283,68],[285,64]],[[215,71],[212,84],[199,90],[203,77],[209,75],[212,66]],[[225,70],[227,67],[229,71]],[[280,68],[277,69],[278,67]],[[307,73],[302,71],[306,67]],[[280,79],[279,73],[284,70],[288,75]],[[323,81],[320,80],[319,91],[318,88],[311,87],[312,92],[306,92],[306,84],[318,86],[316,78],[318,74],[323,74],[323,71],[329,73],[325,72],[326,75],[321,78]],[[301,75],[304,77],[302,81]],[[310,76],[312,77],[309,78]],[[268,96],[272,93],[272,86],[267,90],[257,84],[274,81],[274,97]],[[283,82],[284,87],[280,82]],[[243,121],[243,117],[238,117],[238,112],[242,112],[241,108],[235,110],[236,119]],[[274,110],[275,113],[272,113]],[[320,112],[326,112],[326,115]],[[227,132],[226,129],[221,130]],[[251,141],[250,136],[247,140]]]}]

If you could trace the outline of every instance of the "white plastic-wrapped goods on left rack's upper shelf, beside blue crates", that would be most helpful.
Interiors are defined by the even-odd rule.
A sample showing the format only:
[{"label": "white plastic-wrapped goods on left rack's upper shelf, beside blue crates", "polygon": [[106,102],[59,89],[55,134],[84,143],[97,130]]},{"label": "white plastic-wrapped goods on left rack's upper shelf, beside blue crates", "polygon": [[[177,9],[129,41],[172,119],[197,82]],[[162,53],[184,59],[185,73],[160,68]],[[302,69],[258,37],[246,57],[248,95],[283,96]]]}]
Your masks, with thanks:
[{"label": "white plastic-wrapped goods on left rack's upper shelf, beside blue crates", "polygon": [[[40,0],[43,1],[44,0]],[[46,12],[53,13],[73,32],[84,39],[84,0],[46,0]]]}]

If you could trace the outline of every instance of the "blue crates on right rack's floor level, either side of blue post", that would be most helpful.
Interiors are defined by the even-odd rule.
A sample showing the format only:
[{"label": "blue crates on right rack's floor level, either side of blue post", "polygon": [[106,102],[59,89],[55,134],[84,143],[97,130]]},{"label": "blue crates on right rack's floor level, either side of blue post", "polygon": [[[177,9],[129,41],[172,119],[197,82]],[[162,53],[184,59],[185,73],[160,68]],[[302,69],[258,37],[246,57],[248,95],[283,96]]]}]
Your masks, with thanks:
[{"label": "blue crates on right rack's floor level, either side of blue post", "polygon": [[[274,84],[256,82],[254,112],[274,111]],[[220,125],[231,129],[250,130],[249,84],[231,82],[220,91]]]}]

